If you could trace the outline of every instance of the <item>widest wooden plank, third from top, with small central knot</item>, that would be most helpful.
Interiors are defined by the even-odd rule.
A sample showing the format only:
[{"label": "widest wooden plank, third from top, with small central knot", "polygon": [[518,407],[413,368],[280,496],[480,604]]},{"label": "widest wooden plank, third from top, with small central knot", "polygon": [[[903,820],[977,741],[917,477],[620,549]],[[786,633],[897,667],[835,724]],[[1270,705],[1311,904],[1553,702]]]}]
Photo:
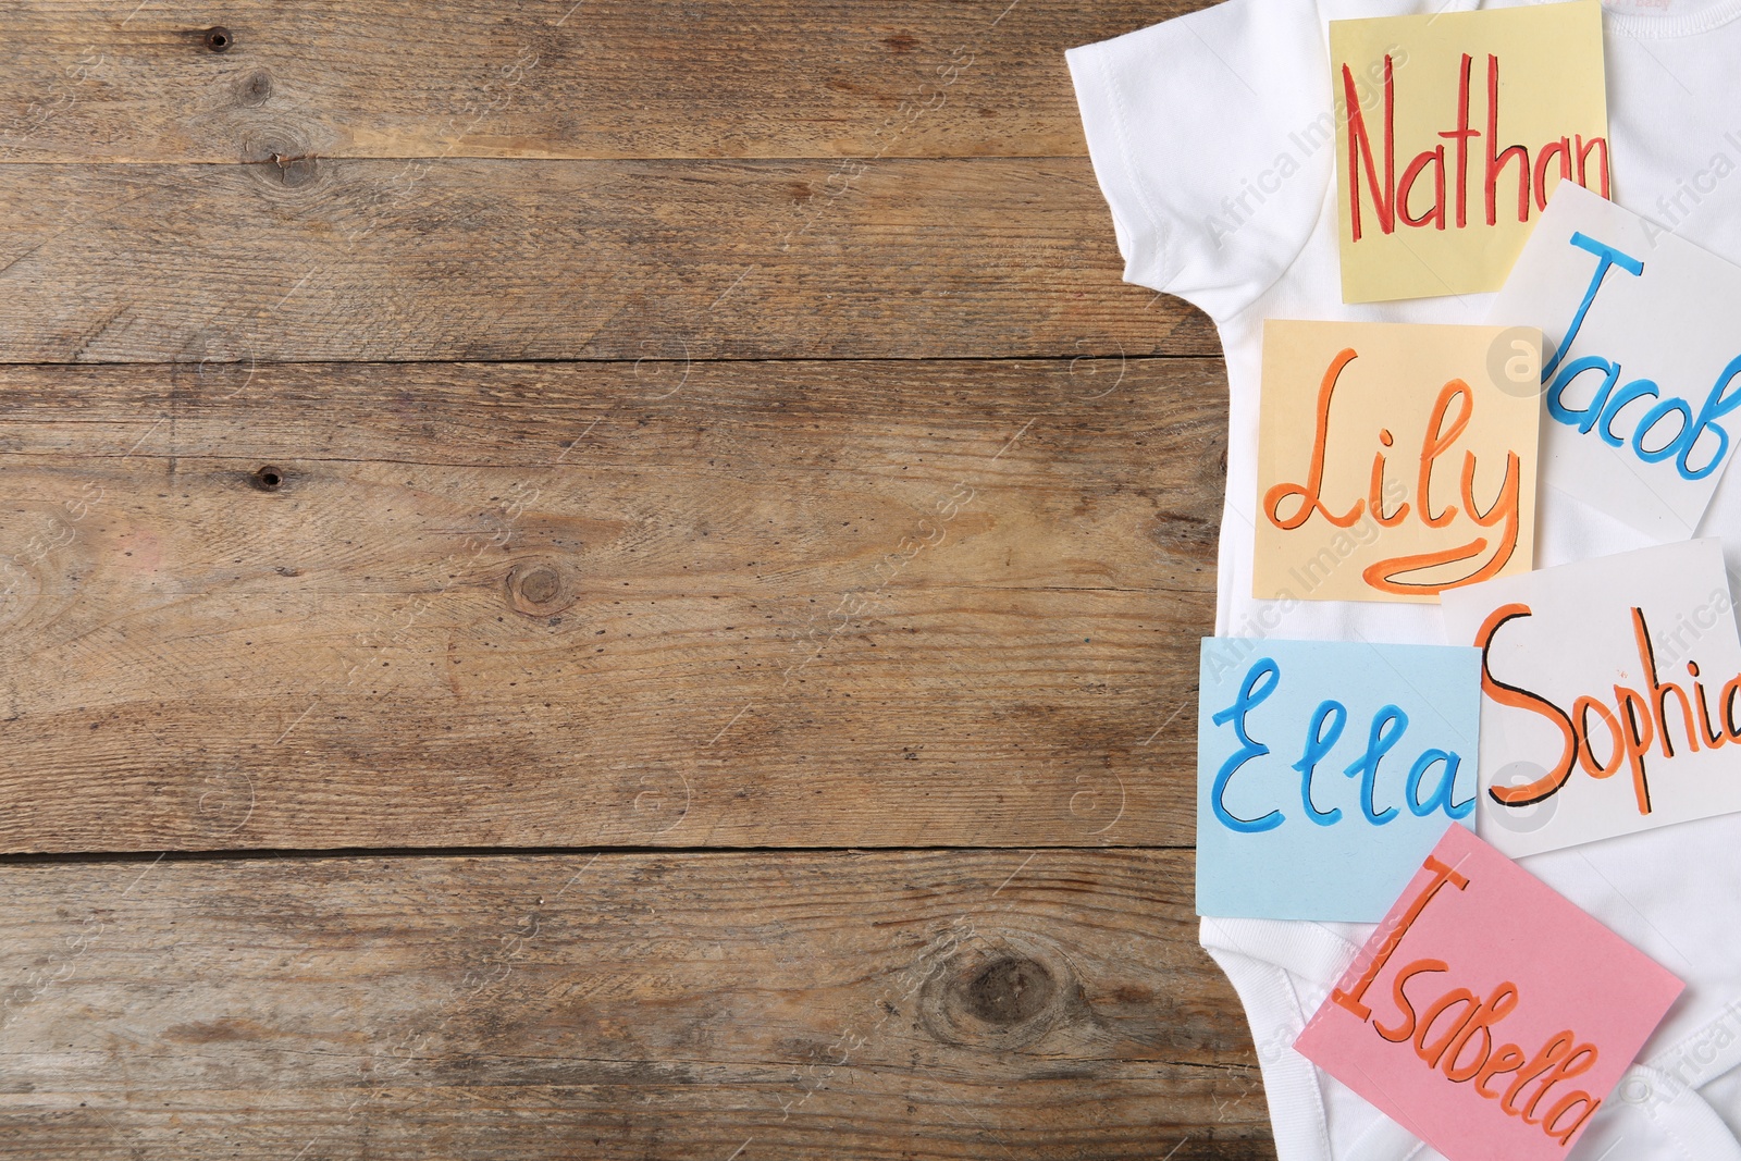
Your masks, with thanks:
[{"label": "widest wooden plank, third from top, with small central knot", "polygon": [[1224,399],[0,369],[0,848],[1189,842]]}]

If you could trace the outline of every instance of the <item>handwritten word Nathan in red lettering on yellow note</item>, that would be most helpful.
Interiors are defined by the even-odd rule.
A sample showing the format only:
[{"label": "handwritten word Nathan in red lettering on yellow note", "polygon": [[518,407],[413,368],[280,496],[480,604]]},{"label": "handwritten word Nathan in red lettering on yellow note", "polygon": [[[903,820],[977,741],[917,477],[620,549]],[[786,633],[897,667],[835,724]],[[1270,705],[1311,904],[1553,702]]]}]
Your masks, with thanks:
[{"label": "handwritten word Nathan in red lettering on yellow note", "polygon": [[[1455,223],[1457,230],[1464,230],[1469,225],[1469,141],[1473,138],[1483,138],[1483,167],[1485,174],[1485,197],[1487,197],[1487,225],[1499,225],[1499,183],[1502,181],[1506,169],[1513,164],[1516,165],[1516,218],[1518,221],[1530,219],[1530,190],[1536,191],[1536,209],[1548,209],[1548,171],[1553,167],[1560,178],[1576,178],[1577,185],[1590,188],[1590,167],[1595,162],[1596,179],[1602,190],[1602,197],[1609,197],[1609,143],[1605,138],[1560,138],[1556,141],[1544,143],[1537,151],[1534,162],[1530,162],[1530,151],[1522,144],[1508,144],[1501,148],[1499,144],[1499,57],[1487,57],[1487,132],[1480,129],[1471,129],[1469,117],[1469,71],[1473,57],[1466,52],[1462,54],[1461,80],[1457,84],[1457,127],[1440,132],[1440,138],[1455,143],[1457,150],[1457,172],[1455,172]],[[1360,108],[1354,87],[1354,73],[1348,64],[1342,64],[1342,87],[1346,91],[1348,103],[1348,211],[1353,216],[1349,223],[1354,230],[1354,242],[1361,238],[1363,223],[1360,218],[1361,202],[1361,183],[1360,174],[1367,174],[1367,188],[1372,197],[1372,211],[1379,219],[1379,230],[1384,233],[1395,233],[1396,223],[1402,221],[1405,226],[1426,226],[1431,225],[1435,230],[1445,230],[1450,209],[1447,205],[1450,186],[1450,178],[1447,174],[1445,146],[1435,146],[1424,150],[1414,157],[1405,167],[1402,181],[1396,179],[1396,77],[1391,57],[1384,57],[1384,178],[1379,178],[1379,160],[1372,150],[1372,134],[1367,129],[1367,117]],[[1414,212],[1414,188],[1415,183],[1422,179],[1426,171],[1433,171],[1433,204],[1422,212]],[[1509,212],[1509,205],[1506,207]]]}]

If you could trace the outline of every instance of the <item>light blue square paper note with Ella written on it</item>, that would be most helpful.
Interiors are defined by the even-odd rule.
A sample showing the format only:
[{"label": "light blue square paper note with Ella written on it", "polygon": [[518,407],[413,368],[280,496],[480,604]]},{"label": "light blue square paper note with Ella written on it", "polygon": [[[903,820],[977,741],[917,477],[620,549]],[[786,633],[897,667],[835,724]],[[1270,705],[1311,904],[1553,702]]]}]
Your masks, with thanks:
[{"label": "light blue square paper note with Ella written on it", "polygon": [[1475,822],[1482,654],[1203,642],[1198,914],[1377,923]]}]

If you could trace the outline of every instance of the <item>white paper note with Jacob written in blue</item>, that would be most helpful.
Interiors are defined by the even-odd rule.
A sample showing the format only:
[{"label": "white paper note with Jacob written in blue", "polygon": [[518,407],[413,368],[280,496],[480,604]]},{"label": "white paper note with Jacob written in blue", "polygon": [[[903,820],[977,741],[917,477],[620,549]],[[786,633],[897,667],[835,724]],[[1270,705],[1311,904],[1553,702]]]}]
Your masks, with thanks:
[{"label": "white paper note with Jacob written in blue", "polygon": [[1741,266],[1570,183],[1492,312],[1543,331],[1543,479],[1692,536],[1741,416]]}]

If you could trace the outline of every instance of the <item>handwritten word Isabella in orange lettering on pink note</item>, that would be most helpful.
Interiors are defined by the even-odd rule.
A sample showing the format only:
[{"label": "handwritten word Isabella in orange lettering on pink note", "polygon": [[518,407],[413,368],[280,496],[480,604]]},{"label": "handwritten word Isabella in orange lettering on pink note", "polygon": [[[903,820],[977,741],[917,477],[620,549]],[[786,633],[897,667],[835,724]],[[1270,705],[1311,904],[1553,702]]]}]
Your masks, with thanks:
[{"label": "handwritten word Isabella in orange lettering on pink note", "polygon": [[[1501,982],[1487,992],[1485,999],[1466,987],[1452,987],[1424,1010],[1417,1010],[1415,1001],[1405,990],[1408,983],[1424,976],[1445,975],[1450,971],[1450,964],[1443,959],[1415,959],[1400,968],[1391,980],[1396,1022],[1386,1027],[1372,1020],[1372,1010],[1363,1003],[1367,990],[1396,954],[1408,928],[1421,917],[1440,888],[1450,884],[1462,891],[1469,886],[1468,876],[1459,874],[1433,855],[1428,855],[1426,869],[1433,877],[1398,917],[1367,971],[1351,990],[1335,989],[1330,992],[1330,999],[1356,1015],[1361,1023],[1370,1022],[1372,1029],[1389,1043],[1412,1043],[1415,1057],[1426,1067],[1442,1072],[1452,1084],[1475,1084],[1475,1091],[1499,1102],[1499,1109],[1506,1116],[1523,1117],[1525,1124],[1539,1124],[1541,1131],[1562,1145],[1570,1142],[1602,1100],[1574,1088],[1555,1093],[1555,1100],[1548,1104],[1548,1093],[1593,1069],[1598,1055],[1596,1046],[1579,1043],[1570,1029],[1555,1032],[1532,1053],[1518,1044],[1499,1043],[1496,1029],[1522,1001],[1516,983]],[[1424,983],[1415,987],[1419,990]],[[1534,1090],[1530,1090],[1532,1084]],[[1530,1091],[1525,1095],[1525,1090]],[[1544,1105],[1546,1109],[1537,1112]]]}]

